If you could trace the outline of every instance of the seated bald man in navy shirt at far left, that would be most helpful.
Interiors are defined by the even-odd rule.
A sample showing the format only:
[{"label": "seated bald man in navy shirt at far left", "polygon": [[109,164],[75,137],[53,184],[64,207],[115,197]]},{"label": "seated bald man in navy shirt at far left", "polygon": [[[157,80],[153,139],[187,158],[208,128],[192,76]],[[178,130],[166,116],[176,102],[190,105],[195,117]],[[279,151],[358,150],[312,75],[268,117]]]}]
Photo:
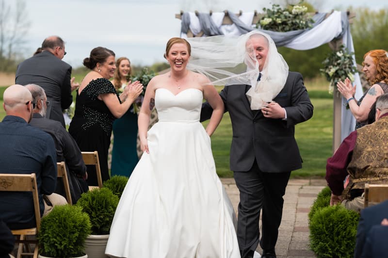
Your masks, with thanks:
[{"label": "seated bald man in navy shirt at far left", "polygon": [[[35,103],[27,88],[9,86],[3,100],[6,116],[0,123],[0,173],[35,173],[40,213],[44,216],[53,206],[66,204],[63,196],[53,194],[57,178],[54,141],[48,133],[28,124]],[[0,219],[11,229],[36,226],[32,195],[0,192]]]}]

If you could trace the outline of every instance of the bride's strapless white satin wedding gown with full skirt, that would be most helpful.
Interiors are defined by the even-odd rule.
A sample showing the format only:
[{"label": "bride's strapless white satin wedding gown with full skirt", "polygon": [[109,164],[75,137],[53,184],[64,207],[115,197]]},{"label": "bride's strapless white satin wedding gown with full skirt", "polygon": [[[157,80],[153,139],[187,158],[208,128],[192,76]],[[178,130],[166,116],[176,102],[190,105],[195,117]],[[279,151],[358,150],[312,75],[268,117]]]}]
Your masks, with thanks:
[{"label": "bride's strapless white satin wedding gown with full skirt", "polygon": [[240,258],[235,214],[199,116],[202,92],[155,92],[159,122],[114,214],[106,254],[126,258]]}]

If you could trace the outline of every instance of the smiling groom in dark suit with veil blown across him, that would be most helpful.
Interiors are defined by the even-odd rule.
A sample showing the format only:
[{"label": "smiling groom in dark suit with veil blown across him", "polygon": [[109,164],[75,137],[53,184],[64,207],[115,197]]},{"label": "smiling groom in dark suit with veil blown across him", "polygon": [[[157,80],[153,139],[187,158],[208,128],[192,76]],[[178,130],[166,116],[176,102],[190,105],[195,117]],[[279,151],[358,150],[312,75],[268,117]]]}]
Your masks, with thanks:
[{"label": "smiling groom in dark suit with veil blown across him", "polygon": [[[276,72],[268,70],[266,60],[269,41],[260,32],[246,41],[259,63],[259,75]],[[277,53],[275,44],[270,51]],[[264,68],[264,71],[263,71]],[[287,69],[288,70],[288,69]],[[302,159],[294,138],[295,124],[311,118],[313,106],[303,84],[302,75],[285,74],[287,80],[273,101],[258,110],[252,110],[246,97],[251,85],[229,85],[220,95],[229,112],[233,129],[230,148],[230,170],[240,190],[237,238],[242,258],[252,258],[258,244],[262,258],[275,258],[275,245],[280,226],[283,195],[292,170],[302,167]],[[254,100],[252,100],[254,101]],[[204,103],[201,121],[211,116],[209,103]],[[262,210],[262,236],[259,238],[259,216]]]}]

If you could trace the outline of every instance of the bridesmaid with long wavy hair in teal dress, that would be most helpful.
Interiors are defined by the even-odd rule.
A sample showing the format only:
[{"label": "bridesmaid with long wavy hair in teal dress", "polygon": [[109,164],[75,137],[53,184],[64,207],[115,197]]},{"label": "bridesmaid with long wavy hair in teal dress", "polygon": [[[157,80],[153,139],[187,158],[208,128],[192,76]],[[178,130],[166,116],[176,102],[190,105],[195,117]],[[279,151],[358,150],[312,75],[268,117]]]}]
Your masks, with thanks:
[{"label": "bridesmaid with long wavy hair in teal dress", "polygon": [[[113,85],[117,92],[124,90],[128,85],[127,79],[131,72],[129,59],[120,57],[116,61],[117,69],[113,76]],[[137,141],[137,114],[133,104],[121,118],[113,122],[113,151],[111,176],[120,175],[129,177],[139,158],[136,150]]]}]

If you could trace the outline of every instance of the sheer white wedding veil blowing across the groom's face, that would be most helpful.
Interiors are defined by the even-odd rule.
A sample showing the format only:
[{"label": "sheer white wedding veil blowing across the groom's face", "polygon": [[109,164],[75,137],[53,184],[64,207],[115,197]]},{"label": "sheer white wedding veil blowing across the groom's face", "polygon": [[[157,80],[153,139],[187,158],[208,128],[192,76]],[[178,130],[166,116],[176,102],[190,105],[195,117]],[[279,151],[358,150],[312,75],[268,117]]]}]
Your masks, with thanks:
[{"label": "sheer white wedding veil blowing across the groom's face", "polygon": [[[268,54],[262,71],[256,57],[246,50],[248,40],[260,34],[268,40]],[[187,69],[206,75],[213,85],[252,85],[247,92],[251,109],[260,109],[283,89],[288,77],[288,65],[277,52],[272,38],[260,31],[241,36],[219,35],[186,39],[191,45]],[[248,44],[247,44],[248,42]],[[261,79],[257,81],[261,72]]]}]

